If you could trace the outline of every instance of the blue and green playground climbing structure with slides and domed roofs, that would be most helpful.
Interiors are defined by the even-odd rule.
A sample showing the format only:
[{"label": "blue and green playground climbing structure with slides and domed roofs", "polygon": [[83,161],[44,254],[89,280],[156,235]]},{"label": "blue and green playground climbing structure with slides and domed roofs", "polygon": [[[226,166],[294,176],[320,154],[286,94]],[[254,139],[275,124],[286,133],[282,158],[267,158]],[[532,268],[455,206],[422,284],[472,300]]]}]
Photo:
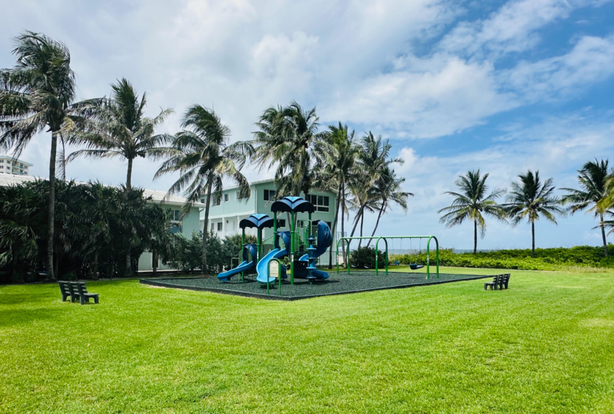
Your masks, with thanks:
[{"label": "blue and green playground climbing structure with slides and domed roofs", "polygon": [[[234,276],[241,275],[245,282],[246,274],[254,272],[256,280],[269,285],[276,280],[281,291],[281,280],[289,279],[291,285],[295,278],[303,278],[309,283],[328,278],[327,272],[316,269],[316,259],[324,254],[333,242],[333,234],[324,221],[311,220],[315,211],[311,202],[301,197],[283,197],[273,202],[271,212],[252,214],[239,222],[241,228],[241,253],[243,262],[234,269],[217,275],[222,282],[230,282]],[[278,231],[278,213],[290,213],[290,231]],[[297,220],[298,213],[308,213],[308,220]],[[262,240],[262,231],[273,228],[273,236]],[[245,243],[245,229],[257,229],[257,243]],[[281,263],[281,259],[289,258],[290,269]],[[297,259],[298,258],[298,259]]]}]

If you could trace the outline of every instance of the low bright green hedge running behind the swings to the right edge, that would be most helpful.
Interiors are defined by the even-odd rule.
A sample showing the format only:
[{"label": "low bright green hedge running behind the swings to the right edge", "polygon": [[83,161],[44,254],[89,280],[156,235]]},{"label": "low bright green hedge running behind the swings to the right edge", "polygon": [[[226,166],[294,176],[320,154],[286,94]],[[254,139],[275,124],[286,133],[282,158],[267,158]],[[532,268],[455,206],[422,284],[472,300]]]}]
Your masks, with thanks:
[{"label": "low bright green hedge running behind the swings to the right edge", "polygon": [[[602,247],[578,246],[572,248],[538,248],[535,257],[530,249],[453,253],[451,249],[439,251],[440,266],[484,267],[487,269],[559,270],[562,267],[614,267],[614,245],[608,245],[608,257]],[[390,261],[402,264],[426,264],[426,252],[417,255],[391,255]],[[435,264],[434,252],[430,263]]]}]

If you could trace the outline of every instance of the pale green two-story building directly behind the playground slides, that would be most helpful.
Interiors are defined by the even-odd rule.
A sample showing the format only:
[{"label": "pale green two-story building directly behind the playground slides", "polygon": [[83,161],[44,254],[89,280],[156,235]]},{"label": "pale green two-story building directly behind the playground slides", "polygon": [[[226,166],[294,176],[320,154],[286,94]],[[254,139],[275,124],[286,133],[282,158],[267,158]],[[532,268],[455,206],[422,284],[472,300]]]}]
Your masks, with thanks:
[{"label": "pale green two-story building directly behind the playground slides", "polygon": [[[204,209],[200,212],[200,229],[208,228],[217,232],[217,235],[223,239],[226,236],[240,233],[239,221],[249,217],[254,213],[268,214],[271,213],[271,204],[274,201],[276,186],[273,180],[261,180],[250,183],[251,196],[247,199],[239,198],[239,188],[236,186],[224,188],[222,196],[219,199],[212,199],[211,208],[209,209],[209,223],[204,224]],[[323,220],[328,223],[332,229],[333,221],[335,220],[336,208],[336,193],[311,191],[308,197],[305,194],[300,194],[301,197],[310,201],[316,211],[312,215],[312,220]],[[204,203],[204,197],[201,199]],[[298,220],[306,220],[306,214],[298,214]],[[286,214],[278,215],[278,230],[290,230],[289,219]],[[247,229],[246,234],[254,234],[255,229]],[[273,235],[273,229],[265,229],[263,238],[266,239]],[[333,256],[336,245],[336,237],[333,240]],[[321,256],[320,264],[328,264],[328,255]]]}]

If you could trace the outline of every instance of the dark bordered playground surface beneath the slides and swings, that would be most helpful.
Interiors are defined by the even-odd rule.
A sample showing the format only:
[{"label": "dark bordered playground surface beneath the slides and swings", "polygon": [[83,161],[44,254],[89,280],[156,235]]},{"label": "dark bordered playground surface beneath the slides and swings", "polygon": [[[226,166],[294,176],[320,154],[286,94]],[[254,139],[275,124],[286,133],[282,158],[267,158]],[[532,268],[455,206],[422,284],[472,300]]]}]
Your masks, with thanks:
[{"label": "dark bordered playground surface beneath the slides and swings", "polygon": [[412,286],[437,285],[438,283],[457,282],[460,280],[475,280],[492,278],[494,275],[463,275],[440,273],[426,274],[419,272],[388,272],[360,270],[357,272],[328,272],[330,277],[323,281],[308,283],[303,279],[295,279],[294,285],[285,280],[281,285],[279,294],[278,283],[271,283],[269,293],[266,293],[266,285],[255,281],[255,275],[246,277],[245,282],[234,277],[231,282],[220,282],[217,277],[183,277],[183,278],[157,278],[141,279],[141,283],[167,288],[191,289],[212,291],[217,293],[235,294],[239,296],[260,297],[262,299],[280,299],[293,301],[307,299],[308,297],[327,296],[332,294],[357,293],[361,291],[373,291],[381,289],[410,288]]}]

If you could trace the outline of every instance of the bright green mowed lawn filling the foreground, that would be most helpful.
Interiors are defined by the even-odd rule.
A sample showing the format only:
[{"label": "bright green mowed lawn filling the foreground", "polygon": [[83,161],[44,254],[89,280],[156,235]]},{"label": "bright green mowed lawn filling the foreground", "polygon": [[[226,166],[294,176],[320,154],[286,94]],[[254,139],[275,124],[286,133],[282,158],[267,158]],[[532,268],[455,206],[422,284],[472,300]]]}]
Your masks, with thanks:
[{"label": "bright green mowed lawn filling the foreground", "polygon": [[114,280],[85,306],[1,286],[0,412],[614,412],[614,274],[483,283],[276,302]]}]

